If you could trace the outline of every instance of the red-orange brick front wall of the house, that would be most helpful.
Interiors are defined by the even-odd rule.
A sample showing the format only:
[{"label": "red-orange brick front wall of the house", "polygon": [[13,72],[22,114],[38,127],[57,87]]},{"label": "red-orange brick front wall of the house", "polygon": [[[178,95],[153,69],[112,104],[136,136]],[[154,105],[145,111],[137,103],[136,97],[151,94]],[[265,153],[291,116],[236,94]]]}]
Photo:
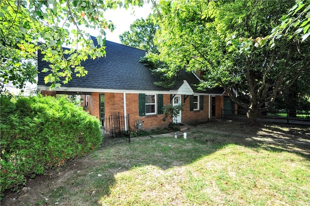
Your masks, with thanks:
[{"label": "red-orange brick front wall of the house", "polygon": [[[181,96],[183,102],[184,95]],[[205,95],[203,110],[189,111],[189,97],[186,98],[184,111],[182,111],[182,122],[186,124],[208,121],[209,117],[209,96]],[[170,95],[164,95],[164,105],[170,103]],[[223,107],[223,96],[216,96],[216,118],[221,118]],[[92,93],[89,100],[89,112],[99,119],[99,93]],[[124,115],[124,94],[105,93],[105,115],[119,112]],[[211,112],[211,111],[210,111]],[[164,114],[139,116],[139,94],[126,94],[126,113],[130,115],[130,127],[135,129],[135,121],[142,120],[144,129],[155,129],[167,127],[169,122],[163,122]]]}]

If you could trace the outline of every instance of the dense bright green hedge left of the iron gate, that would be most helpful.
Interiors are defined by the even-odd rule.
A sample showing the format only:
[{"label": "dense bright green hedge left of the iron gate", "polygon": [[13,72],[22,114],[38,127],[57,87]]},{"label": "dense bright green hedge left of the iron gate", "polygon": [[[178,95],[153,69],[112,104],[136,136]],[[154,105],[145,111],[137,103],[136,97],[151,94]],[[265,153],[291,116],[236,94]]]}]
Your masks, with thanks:
[{"label": "dense bright green hedge left of the iron gate", "polygon": [[64,98],[0,97],[0,192],[98,148],[100,122]]}]

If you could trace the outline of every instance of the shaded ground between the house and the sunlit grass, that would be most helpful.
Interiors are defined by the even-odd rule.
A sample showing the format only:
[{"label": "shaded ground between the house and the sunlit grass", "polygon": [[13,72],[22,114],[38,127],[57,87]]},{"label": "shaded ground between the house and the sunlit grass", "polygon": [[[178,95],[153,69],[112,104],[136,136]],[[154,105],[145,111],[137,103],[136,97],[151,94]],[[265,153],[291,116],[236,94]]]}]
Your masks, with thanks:
[{"label": "shaded ground between the house and the sunlit grass", "polygon": [[[247,129],[246,127],[244,128]],[[211,155],[229,144],[250,148],[262,148],[273,152],[291,152],[310,159],[309,129],[292,128],[289,131],[281,127],[273,128],[279,134],[275,137],[264,134],[262,137],[233,136],[197,131],[183,138],[151,138],[132,141],[98,149],[84,158],[74,159],[63,170],[48,179],[36,177],[29,181],[28,192],[7,193],[1,206],[9,205],[98,205],[100,198],[109,196],[115,175],[148,165],[162,170],[191,164],[202,157]],[[259,130],[257,130],[258,132]],[[242,131],[240,131],[242,133]],[[43,191],[43,197],[39,191]],[[15,201],[12,201],[15,198]]]}]

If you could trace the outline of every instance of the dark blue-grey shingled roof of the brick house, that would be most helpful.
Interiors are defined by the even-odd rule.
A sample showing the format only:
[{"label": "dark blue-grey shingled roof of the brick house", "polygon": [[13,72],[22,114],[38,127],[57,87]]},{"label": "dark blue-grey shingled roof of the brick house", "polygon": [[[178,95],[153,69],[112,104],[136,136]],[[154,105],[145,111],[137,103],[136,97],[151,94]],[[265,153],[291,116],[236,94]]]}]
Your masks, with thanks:
[{"label": "dark blue-grey shingled roof of the brick house", "polygon": [[[93,42],[97,45],[97,40],[92,37]],[[190,85],[198,84],[200,81],[193,73],[180,71],[177,76],[176,84],[173,88],[165,89],[154,84],[160,79],[152,75],[149,68],[140,63],[140,58],[145,56],[145,51],[106,41],[106,57],[95,60],[88,59],[81,62],[88,74],[85,77],[76,77],[72,75],[72,80],[62,85],[62,88],[94,88],[94,89],[111,89],[111,90],[144,90],[144,91],[169,91],[177,90],[186,80]],[[38,71],[48,68],[48,64],[42,61],[44,57],[38,52]],[[44,77],[48,73],[40,72],[38,74],[38,85],[48,86],[44,83]],[[192,87],[193,88],[193,87]],[[222,94],[221,91],[215,90],[212,94]],[[205,91],[207,92],[207,91]],[[203,93],[205,93],[203,92]],[[211,92],[211,91],[210,91]]]}]

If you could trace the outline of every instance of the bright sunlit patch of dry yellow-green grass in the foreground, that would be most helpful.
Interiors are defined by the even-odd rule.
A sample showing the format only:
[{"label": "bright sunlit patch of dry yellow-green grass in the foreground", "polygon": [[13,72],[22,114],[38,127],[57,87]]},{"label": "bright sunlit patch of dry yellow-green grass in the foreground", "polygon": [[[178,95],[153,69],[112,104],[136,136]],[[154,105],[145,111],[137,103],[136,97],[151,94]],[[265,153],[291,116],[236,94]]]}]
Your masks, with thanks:
[{"label": "bright sunlit patch of dry yellow-green grass in the foreground", "polygon": [[286,152],[226,145],[194,162],[115,174],[102,205],[307,205],[309,161]]}]

